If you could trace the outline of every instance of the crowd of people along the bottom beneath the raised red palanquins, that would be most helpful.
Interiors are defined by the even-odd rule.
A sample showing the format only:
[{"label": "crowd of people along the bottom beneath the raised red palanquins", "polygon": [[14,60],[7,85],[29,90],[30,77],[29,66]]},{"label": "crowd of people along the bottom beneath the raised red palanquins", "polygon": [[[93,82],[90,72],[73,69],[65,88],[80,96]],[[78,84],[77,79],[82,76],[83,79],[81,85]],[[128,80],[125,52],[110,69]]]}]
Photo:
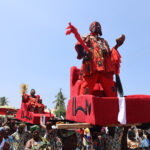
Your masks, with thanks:
[{"label": "crowd of people along the bottom beneath the raised red palanquins", "polygon": [[56,121],[40,125],[0,122],[0,150],[149,150],[150,132],[136,126],[56,129]]}]

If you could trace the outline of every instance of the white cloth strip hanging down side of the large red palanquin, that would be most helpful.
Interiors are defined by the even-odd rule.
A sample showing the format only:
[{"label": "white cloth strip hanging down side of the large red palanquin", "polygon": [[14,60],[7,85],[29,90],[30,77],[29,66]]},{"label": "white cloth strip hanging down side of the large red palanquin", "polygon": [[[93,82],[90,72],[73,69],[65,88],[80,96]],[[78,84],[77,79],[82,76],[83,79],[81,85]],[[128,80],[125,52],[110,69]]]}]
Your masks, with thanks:
[{"label": "white cloth strip hanging down side of the large red palanquin", "polygon": [[126,101],[125,97],[118,97],[119,99],[119,113],[118,121],[120,124],[126,124]]}]

